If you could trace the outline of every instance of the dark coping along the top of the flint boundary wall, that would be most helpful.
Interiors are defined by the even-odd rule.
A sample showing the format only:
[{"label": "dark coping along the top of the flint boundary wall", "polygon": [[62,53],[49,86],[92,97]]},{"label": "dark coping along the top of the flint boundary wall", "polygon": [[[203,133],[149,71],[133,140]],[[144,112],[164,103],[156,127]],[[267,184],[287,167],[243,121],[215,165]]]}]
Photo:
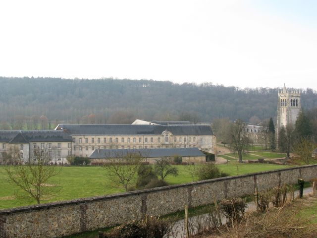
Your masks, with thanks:
[{"label": "dark coping along the top of the flint boundary wall", "polygon": [[196,181],[196,182],[187,182],[187,183],[169,185],[169,186],[164,186],[164,187],[149,188],[149,189],[123,192],[123,193],[117,193],[117,194],[93,196],[93,197],[78,198],[78,199],[73,199],[73,200],[57,201],[57,202],[30,205],[30,206],[24,206],[24,207],[2,209],[2,210],[0,210],[0,215],[9,215],[9,214],[13,214],[13,213],[27,212],[27,211],[34,211],[34,210],[44,210],[44,209],[50,209],[53,207],[76,205],[76,204],[81,204],[81,203],[91,203],[94,201],[109,200],[109,199],[115,199],[115,198],[119,198],[119,197],[138,196],[140,194],[148,194],[148,193],[154,193],[154,192],[158,192],[158,191],[171,190],[171,189],[182,188],[182,187],[190,187],[190,186],[195,186],[198,184],[213,183],[213,182],[217,182],[217,181],[226,181],[226,180],[231,180],[231,179],[253,177],[253,176],[264,175],[264,174],[280,173],[283,171],[305,169],[305,168],[310,168],[310,167],[317,167],[317,165],[297,166],[297,167],[291,167],[291,168],[286,168],[286,169],[269,170],[269,171],[263,171],[263,172],[246,174],[246,175],[236,175],[236,176],[228,176],[228,177],[222,177],[222,178],[217,178],[217,179],[208,179],[208,180],[202,180],[202,181]]}]

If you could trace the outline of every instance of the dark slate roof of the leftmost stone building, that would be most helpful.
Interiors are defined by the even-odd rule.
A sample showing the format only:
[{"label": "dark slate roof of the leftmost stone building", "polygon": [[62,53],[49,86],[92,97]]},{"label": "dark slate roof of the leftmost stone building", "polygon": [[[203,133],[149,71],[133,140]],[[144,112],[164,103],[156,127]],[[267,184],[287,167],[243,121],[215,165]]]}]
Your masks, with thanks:
[{"label": "dark slate roof of the leftmost stone building", "polygon": [[69,134],[62,130],[0,130],[0,142],[71,142]]}]

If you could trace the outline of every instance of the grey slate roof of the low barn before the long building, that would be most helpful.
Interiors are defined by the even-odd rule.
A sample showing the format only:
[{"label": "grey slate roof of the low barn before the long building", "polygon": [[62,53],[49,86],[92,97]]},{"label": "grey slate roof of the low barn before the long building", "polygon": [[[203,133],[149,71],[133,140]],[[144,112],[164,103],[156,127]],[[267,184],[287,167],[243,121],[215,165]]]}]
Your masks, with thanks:
[{"label": "grey slate roof of the low barn before the long building", "polygon": [[90,159],[115,158],[128,153],[140,153],[147,158],[179,156],[206,156],[198,148],[169,148],[169,149],[96,149]]}]

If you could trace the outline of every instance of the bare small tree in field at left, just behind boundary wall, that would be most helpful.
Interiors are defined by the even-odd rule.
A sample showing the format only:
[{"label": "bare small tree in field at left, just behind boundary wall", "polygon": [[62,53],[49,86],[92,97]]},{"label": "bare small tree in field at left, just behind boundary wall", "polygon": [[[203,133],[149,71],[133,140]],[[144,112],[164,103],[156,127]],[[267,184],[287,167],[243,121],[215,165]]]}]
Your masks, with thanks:
[{"label": "bare small tree in field at left, just behind boundary wall", "polygon": [[58,175],[61,168],[49,165],[51,158],[46,149],[35,148],[33,153],[34,160],[30,158],[27,165],[23,165],[21,161],[15,165],[5,166],[4,170],[11,183],[25,191],[27,197],[34,198],[39,204],[44,197],[60,191],[57,184],[52,183],[50,179]]}]

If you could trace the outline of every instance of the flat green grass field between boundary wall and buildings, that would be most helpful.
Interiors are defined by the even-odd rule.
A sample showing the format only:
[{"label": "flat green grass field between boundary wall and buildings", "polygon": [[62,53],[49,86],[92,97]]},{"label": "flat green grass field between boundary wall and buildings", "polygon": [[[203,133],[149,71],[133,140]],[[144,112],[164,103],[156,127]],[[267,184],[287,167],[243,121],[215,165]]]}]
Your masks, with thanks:
[{"label": "flat green grass field between boundary wall and buildings", "polygon": [[[217,165],[223,172],[229,175],[249,174],[267,170],[276,170],[288,166],[270,165],[270,164],[222,164]],[[179,170],[178,177],[167,177],[166,181],[170,184],[179,184],[191,182],[192,178],[186,166],[177,166]],[[0,166],[0,209],[26,206],[35,204],[33,200],[18,199],[14,196],[18,188],[6,180],[6,172]],[[44,202],[70,200],[96,195],[105,195],[123,192],[124,189],[111,186],[107,179],[106,171],[102,167],[61,167],[58,176],[52,179],[52,182],[60,184],[62,190],[59,194],[47,198]]]}]

